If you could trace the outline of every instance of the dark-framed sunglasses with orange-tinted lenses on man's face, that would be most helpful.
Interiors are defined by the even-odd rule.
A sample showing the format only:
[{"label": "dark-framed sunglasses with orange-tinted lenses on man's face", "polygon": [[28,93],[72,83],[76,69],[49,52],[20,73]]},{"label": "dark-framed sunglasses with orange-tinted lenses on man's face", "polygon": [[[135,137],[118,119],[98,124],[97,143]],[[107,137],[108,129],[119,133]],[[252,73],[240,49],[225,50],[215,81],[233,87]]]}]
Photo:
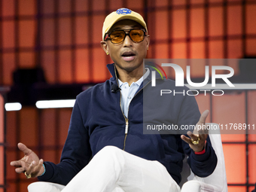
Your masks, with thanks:
[{"label": "dark-framed sunglasses with orange-tinted lenses on man's face", "polygon": [[126,35],[130,37],[130,39],[139,43],[142,42],[147,33],[145,29],[130,29],[130,30],[114,30],[113,32],[106,34],[104,40],[110,39],[112,44],[120,44],[126,38]]}]

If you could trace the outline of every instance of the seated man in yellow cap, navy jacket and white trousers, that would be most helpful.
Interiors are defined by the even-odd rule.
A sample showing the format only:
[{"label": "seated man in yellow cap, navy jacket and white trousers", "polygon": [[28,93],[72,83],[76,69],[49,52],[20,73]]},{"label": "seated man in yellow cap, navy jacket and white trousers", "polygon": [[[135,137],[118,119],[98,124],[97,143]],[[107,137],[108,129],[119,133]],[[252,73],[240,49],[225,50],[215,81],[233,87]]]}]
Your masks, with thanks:
[{"label": "seated man in yellow cap, navy jacket and white trousers", "polygon": [[[59,164],[39,160],[19,143],[25,156],[11,162],[15,171],[66,185],[63,192],[180,191],[184,154],[195,175],[212,174],[217,157],[208,134],[143,134],[143,90],[149,89],[153,70],[143,64],[149,43],[140,14],[126,8],[109,14],[101,46],[114,61],[108,65],[112,78],[77,96]],[[173,81],[157,79],[165,82]],[[202,125],[209,113],[200,116],[194,96],[173,96],[165,108],[178,125]]]}]

